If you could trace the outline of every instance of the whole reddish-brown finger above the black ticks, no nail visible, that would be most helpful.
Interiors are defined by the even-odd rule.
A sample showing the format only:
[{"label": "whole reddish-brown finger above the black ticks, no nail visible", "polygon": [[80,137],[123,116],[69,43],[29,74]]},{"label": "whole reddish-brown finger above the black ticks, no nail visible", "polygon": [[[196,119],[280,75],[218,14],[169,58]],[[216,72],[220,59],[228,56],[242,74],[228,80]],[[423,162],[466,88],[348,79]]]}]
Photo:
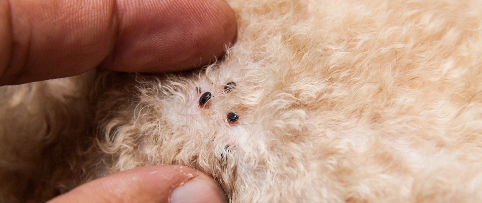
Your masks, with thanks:
[{"label": "whole reddish-brown finger above the black ticks, no nail visible", "polygon": [[222,55],[236,32],[222,0],[0,2],[0,85],[78,75],[190,69]]}]

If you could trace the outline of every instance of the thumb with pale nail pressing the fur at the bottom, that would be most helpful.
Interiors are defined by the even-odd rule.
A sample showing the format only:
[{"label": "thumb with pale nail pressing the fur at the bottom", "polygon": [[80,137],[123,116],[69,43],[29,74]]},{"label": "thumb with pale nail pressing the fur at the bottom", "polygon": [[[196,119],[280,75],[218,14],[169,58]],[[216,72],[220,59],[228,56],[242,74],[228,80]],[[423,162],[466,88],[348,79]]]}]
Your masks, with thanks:
[{"label": "thumb with pale nail pressing the fur at the bottom", "polygon": [[215,180],[179,165],[134,168],[85,183],[49,202],[227,202]]}]

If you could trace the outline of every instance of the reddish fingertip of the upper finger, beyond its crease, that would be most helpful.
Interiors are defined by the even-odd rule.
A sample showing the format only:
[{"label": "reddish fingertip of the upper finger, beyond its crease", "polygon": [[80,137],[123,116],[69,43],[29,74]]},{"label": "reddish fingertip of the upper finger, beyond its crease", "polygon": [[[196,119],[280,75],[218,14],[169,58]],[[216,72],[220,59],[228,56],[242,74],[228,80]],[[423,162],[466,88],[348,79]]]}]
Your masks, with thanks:
[{"label": "reddish fingertip of the upper finger, beyond its crease", "polygon": [[236,37],[226,1],[152,1],[118,4],[116,46],[102,66],[124,72],[172,72],[219,59]]}]

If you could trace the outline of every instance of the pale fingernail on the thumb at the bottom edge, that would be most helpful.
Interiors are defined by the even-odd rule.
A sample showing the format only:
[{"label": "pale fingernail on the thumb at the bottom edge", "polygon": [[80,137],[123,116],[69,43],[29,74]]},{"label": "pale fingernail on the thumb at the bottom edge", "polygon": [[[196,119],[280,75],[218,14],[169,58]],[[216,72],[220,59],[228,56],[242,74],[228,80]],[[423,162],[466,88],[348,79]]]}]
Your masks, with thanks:
[{"label": "pale fingernail on the thumb at the bottom edge", "polygon": [[196,177],[170,193],[170,203],[228,202],[224,191],[216,182]]}]

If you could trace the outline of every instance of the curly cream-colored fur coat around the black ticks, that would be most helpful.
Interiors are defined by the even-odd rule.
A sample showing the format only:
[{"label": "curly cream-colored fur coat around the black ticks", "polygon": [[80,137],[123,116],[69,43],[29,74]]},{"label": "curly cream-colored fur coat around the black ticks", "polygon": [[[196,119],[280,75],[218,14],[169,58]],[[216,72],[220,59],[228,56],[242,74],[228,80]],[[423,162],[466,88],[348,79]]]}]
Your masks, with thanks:
[{"label": "curly cream-colored fur coat around the black ticks", "polygon": [[[2,88],[0,181],[35,171],[43,160],[16,160],[30,160],[23,150],[49,150],[39,138],[68,143],[68,133],[28,131],[47,125],[83,143],[69,148],[77,156],[46,161],[54,174],[46,181],[64,188],[180,164],[213,176],[233,202],[482,201],[482,1],[230,4],[237,42],[201,71],[99,73],[92,94],[71,85],[88,75]],[[205,91],[213,98],[200,107]],[[78,95],[85,101],[72,100]],[[82,124],[89,104],[94,127]],[[229,112],[239,120],[227,122]],[[35,142],[6,142],[14,137]],[[58,178],[69,173],[78,176]]]}]

